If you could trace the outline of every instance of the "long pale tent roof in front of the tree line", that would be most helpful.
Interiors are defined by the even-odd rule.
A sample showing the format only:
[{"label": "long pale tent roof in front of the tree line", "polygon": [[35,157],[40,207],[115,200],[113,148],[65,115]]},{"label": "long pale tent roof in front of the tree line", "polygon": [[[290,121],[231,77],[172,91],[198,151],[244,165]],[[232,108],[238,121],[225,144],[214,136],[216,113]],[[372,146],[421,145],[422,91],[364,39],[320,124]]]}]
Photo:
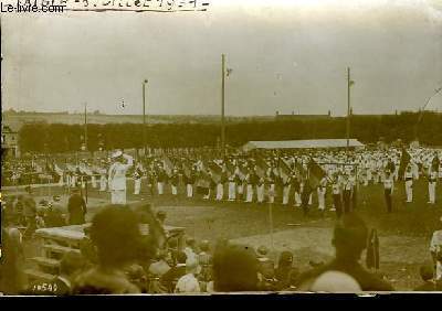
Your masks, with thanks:
[{"label": "long pale tent roof in front of the tree line", "polygon": [[[244,150],[253,149],[309,149],[309,148],[346,148],[347,139],[308,139],[281,141],[249,141]],[[364,147],[357,139],[349,140],[349,147]]]}]

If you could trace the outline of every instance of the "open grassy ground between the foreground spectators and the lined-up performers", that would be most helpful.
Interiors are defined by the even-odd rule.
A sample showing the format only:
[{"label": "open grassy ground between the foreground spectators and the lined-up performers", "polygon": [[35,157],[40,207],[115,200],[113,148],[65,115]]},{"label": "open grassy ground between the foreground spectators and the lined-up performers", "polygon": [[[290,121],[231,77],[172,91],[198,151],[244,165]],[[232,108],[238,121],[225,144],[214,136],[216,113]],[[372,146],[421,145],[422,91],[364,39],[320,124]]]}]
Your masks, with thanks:
[{"label": "open grassy ground between the foreground spectators and the lined-up performers", "polygon": [[[167,186],[169,189],[169,186]],[[147,190],[133,195],[133,182],[128,183],[129,201],[148,201],[155,210],[167,212],[167,224],[186,227],[187,234],[197,239],[215,242],[218,238],[234,239],[252,246],[271,247],[269,204],[245,204],[240,202],[213,202],[199,197],[188,200],[183,193],[172,197],[150,197]],[[183,191],[183,189],[181,190]],[[62,193],[52,189],[51,194]],[[49,190],[35,190],[36,195],[48,195]],[[108,202],[108,193],[90,191],[90,213],[87,218]],[[438,184],[435,205],[428,205],[427,182],[419,181],[414,187],[414,202],[404,203],[404,186],[398,183],[393,194],[392,214],[387,214],[383,189],[380,184],[361,186],[358,191],[357,212],[370,228],[377,228],[380,239],[380,272],[386,275],[396,289],[411,290],[420,283],[419,267],[431,259],[428,251],[433,230],[441,227],[442,186]],[[327,200],[327,210],[332,206]],[[335,213],[327,211],[322,217],[314,203],[309,217],[304,217],[301,208],[274,204],[274,253],[290,249],[295,254],[296,265],[308,269],[309,260],[326,261],[333,257],[330,245]]]}]

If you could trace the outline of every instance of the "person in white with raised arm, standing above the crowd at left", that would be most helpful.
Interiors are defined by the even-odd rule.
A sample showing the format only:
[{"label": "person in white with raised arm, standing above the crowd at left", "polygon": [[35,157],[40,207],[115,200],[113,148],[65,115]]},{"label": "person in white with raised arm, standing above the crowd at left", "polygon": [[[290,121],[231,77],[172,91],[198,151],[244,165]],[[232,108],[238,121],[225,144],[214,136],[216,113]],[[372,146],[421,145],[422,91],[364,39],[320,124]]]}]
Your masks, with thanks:
[{"label": "person in white with raised arm, standing above the crowd at left", "polygon": [[[126,172],[134,164],[134,159],[130,156],[117,151],[113,154],[116,160],[109,168],[109,189],[112,204],[126,204]],[[123,163],[122,158],[126,159],[127,163]]]}]

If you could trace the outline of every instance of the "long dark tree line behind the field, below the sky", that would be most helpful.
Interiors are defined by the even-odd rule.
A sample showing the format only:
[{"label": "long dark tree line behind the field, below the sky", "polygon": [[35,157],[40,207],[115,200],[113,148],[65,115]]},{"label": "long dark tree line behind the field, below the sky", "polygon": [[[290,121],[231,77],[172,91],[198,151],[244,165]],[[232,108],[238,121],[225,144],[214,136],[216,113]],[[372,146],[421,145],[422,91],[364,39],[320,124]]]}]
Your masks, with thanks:
[{"label": "long dark tree line behind the field, below the sky", "polygon": [[[146,143],[150,148],[217,147],[220,140],[219,124],[155,124],[146,127]],[[19,131],[22,152],[78,151],[84,144],[84,125],[34,122],[24,124]],[[232,147],[250,140],[294,140],[345,138],[346,118],[316,120],[241,121],[227,124],[225,139]],[[382,139],[391,142],[401,139],[442,146],[442,114],[402,112],[386,116],[351,116],[350,137],[365,143]],[[143,148],[140,124],[87,125],[87,150]]]}]

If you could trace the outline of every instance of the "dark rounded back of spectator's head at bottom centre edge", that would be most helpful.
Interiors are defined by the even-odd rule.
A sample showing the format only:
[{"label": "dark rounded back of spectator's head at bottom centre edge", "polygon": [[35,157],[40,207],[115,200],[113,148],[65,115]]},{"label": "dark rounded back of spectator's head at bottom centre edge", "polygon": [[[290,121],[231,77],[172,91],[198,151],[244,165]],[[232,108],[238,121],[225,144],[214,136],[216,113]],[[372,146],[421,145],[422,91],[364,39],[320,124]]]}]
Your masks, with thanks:
[{"label": "dark rounded back of spectator's head at bottom centre edge", "polygon": [[213,254],[213,291],[256,291],[259,261],[252,247],[221,242]]}]

